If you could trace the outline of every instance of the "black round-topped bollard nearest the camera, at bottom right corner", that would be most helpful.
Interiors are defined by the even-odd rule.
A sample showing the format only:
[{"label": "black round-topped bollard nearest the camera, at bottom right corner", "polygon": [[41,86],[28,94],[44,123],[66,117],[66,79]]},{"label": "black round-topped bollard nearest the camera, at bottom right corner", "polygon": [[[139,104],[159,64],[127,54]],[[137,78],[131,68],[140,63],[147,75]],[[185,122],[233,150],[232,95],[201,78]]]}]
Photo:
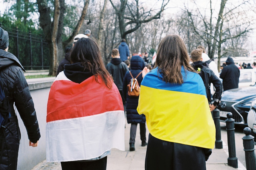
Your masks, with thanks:
[{"label": "black round-topped bollard nearest the camera, at bottom right corner", "polygon": [[250,135],[251,129],[246,127],[243,129],[243,133],[246,135],[243,139],[243,150],[245,153],[246,169],[256,170],[255,154],[254,154],[254,137]]}]

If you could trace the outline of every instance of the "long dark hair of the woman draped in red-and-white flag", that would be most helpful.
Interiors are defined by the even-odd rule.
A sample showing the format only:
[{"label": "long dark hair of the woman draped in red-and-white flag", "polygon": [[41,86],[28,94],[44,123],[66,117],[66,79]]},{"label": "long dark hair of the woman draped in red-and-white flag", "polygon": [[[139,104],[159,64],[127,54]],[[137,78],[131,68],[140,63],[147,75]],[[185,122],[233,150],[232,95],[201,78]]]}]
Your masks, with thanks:
[{"label": "long dark hair of the woman draped in red-and-white flag", "polygon": [[112,88],[112,77],[106,69],[101,58],[100,50],[97,43],[90,38],[80,38],[70,53],[71,63],[80,62],[84,69],[88,69],[98,81],[100,76],[106,86]]}]

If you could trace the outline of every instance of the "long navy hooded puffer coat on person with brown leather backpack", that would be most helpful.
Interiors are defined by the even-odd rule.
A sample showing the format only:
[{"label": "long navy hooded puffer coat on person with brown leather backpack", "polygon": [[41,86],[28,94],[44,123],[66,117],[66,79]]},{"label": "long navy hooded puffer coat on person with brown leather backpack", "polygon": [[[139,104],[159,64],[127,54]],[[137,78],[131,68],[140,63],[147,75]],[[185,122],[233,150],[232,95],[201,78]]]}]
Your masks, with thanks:
[{"label": "long navy hooded puffer coat on person with brown leather backpack", "polygon": [[[145,67],[144,60],[135,55],[131,58],[131,73],[133,78],[135,78]],[[127,94],[127,85],[130,83],[132,78],[129,71],[125,73],[124,83],[123,83],[123,95],[126,100],[126,117],[127,123],[146,123],[146,117],[144,114],[139,115],[137,112],[139,96],[129,96]],[[137,81],[141,86],[142,74],[137,77]]]}]

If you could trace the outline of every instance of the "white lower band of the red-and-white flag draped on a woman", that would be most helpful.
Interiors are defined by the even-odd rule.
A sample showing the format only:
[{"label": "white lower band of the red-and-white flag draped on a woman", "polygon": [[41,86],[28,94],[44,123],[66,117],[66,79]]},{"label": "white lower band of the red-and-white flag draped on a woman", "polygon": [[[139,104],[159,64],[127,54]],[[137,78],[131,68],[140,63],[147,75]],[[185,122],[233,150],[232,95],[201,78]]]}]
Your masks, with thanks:
[{"label": "white lower band of the red-and-white flag draped on a woman", "polygon": [[88,160],[111,148],[124,151],[124,125],[124,111],[48,122],[46,160]]}]

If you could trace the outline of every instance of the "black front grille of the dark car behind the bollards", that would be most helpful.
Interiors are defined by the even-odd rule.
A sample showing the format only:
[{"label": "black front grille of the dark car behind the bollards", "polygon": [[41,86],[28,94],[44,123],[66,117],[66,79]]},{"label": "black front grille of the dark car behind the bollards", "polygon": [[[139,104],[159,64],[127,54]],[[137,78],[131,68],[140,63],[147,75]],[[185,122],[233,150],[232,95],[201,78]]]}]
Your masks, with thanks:
[{"label": "black front grille of the dark car behind the bollards", "polygon": [[[221,103],[226,102],[226,107],[222,108],[221,107]],[[241,115],[239,115],[237,112],[237,110],[235,108],[232,107],[232,105],[236,102],[227,102],[227,101],[221,101],[221,103],[218,106],[218,109],[224,112],[231,112],[233,114],[233,119],[235,119],[235,122],[239,123],[242,122],[242,117]],[[225,117],[220,117],[220,120],[225,121],[227,118]]]}]

